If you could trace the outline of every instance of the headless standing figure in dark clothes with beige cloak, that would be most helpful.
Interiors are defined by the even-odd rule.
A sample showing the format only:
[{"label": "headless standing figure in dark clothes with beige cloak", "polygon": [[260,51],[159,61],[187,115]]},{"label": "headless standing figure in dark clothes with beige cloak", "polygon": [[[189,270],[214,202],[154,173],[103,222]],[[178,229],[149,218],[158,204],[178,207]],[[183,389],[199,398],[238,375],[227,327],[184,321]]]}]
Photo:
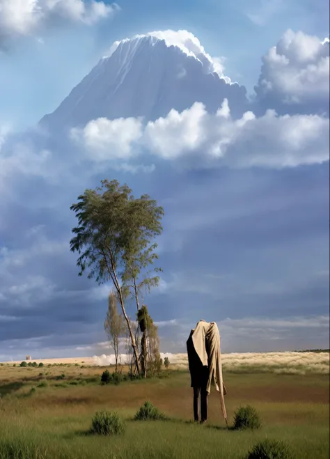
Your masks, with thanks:
[{"label": "headless standing figure in dark clothes with beige cloak", "polygon": [[[215,322],[200,320],[192,329],[187,341],[191,387],[194,389],[194,419],[199,420],[198,402],[201,395],[201,423],[207,421],[208,395],[214,382],[221,396],[221,410],[227,423],[227,413],[223,396],[226,387],[222,379],[220,334]],[[227,423],[228,425],[228,423]]]}]

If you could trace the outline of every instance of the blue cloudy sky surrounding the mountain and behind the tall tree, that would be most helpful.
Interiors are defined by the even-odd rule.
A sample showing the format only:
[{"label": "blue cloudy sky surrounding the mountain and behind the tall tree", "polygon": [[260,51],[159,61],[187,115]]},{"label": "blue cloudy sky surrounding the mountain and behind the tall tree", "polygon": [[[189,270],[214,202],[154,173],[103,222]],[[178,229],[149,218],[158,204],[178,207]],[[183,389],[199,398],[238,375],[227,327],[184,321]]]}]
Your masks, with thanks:
[{"label": "blue cloudy sky surrounding the mountain and behind the tall tree", "polygon": [[[164,205],[164,275],[146,299],[164,352],[184,350],[190,327],[201,318],[218,322],[226,352],[327,347],[329,65],[321,65],[329,46],[314,51],[313,37],[329,37],[328,2],[123,0],[118,6],[95,2],[102,9],[92,10],[87,1],[70,0],[65,8],[61,1],[50,10],[49,0],[30,0],[42,16],[32,8],[14,22],[8,5],[15,1],[0,0],[0,360],[103,353],[109,288],[77,276],[69,207],[105,177]],[[168,29],[194,34],[251,98],[242,107],[237,99],[235,115],[228,92],[230,115],[221,123],[207,114],[207,102],[205,112],[199,106],[188,112],[189,123],[218,146],[231,133],[228,159],[203,156],[211,140],[179,145],[171,118],[166,129],[157,121],[125,124],[126,133],[134,127],[132,137],[116,145],[109,135],[95,143],[87,125],[77,131],[86,145],[61,139],[56,147],[26,133],[115,40]],[[285,40],[294,43],[285,58],[290,73],[276,67],[280,51],[262,68],[262,56]],[[305,56],[305,64],[301,53],[310,49],[320,56]],[[299,82],[311,59],[313,78]],[[271,82],[270,91],[262,80]],[[236,123],[246,107],[256,116],[253,130]],[[262,118],[267,109],[280,118]],[[180,123],[180,136],[190,135],[192,124]],[[107,132],[112,126],[107,120]],[[130,142],[141,136],[143,164],[152,168],[132,173],[137,154]],[[100,152],[116,147],[116,161],[78,164],[91,141]],[[194,154],[185,154],[188,147]]]}]

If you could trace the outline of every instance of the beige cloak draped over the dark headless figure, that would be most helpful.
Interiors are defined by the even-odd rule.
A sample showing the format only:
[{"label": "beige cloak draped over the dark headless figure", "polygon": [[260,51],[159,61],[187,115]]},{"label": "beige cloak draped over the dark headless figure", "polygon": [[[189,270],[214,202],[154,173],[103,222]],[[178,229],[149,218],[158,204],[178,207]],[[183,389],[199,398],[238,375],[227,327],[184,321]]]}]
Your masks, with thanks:
[{"label": "beige cloak draped over the dark headless figure", "polygon": [[[205,322],[205,320],[200,320],[197,323],[196,328],[191,331],[193,332],[192,341],[198,357],[201,359],[204,366],[209,366],[210,375],[207,381],[207,394],[210,394],[211,383],[213,380],[215,387],[220,394],[221,410],[223,417],[227,422],[227,412],[223,397],[227,394],[227,391],[222,378],[220,334],[218,326],[215,322]],[[206,344],[208,347],[208,355]]]}]

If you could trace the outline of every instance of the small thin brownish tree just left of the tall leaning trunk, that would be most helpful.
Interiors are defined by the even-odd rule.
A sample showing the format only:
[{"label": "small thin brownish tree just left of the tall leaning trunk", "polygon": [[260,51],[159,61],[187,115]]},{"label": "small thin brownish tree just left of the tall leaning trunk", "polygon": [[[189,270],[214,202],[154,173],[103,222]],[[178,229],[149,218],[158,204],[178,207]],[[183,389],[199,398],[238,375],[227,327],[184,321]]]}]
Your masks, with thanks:
[{"label": "small thin brownish tree just left of the tall leaning trunk", "polygon": [[118,299],[115,292],[110,292],[108,297],[107,316],[104,320],[104,330],[115,353],[115,371],[118,372],[118,357],[120,338],[125,333],[123,316],[118,313]]}]

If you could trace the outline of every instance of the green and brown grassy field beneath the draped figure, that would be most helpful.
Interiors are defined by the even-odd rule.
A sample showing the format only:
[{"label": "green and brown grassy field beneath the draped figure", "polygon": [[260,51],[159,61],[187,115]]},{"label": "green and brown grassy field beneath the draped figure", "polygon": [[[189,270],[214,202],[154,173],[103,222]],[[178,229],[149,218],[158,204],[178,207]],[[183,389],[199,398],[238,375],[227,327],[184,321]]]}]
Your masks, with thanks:
[{"label": "green and brown grassy field beneath the draped figure", "polygon": [[[226,429],[214,388],[208,425],[190,422],[187,371],[101,386],[104,368],[81,365],[0,366],[0,459],[237,459],[265,438],[287,442],[292,458],[329,458],[327,374],[225,371],[229,423],[237,407],[246,404],[256,407],[262,419],[260,430],[237,432]],[[132,421],[146,400],[172,420]],[[126,432],[88,435],[93,414],[100,410],[118,411]]]}]

